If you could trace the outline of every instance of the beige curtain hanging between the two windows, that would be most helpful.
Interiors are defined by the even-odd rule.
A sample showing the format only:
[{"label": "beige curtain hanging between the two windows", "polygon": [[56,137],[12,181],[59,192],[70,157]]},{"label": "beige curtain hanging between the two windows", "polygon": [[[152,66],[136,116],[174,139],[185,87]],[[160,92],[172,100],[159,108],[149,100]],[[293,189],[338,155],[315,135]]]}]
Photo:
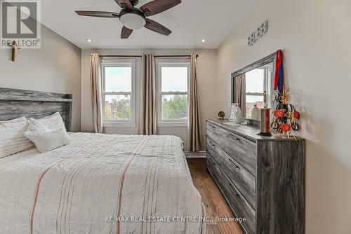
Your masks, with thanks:
[{"label": "beige curtain hanging between the two windows", "polygon": [[143,55],[141,72],[140,135],[157,135],[154,55]]}]

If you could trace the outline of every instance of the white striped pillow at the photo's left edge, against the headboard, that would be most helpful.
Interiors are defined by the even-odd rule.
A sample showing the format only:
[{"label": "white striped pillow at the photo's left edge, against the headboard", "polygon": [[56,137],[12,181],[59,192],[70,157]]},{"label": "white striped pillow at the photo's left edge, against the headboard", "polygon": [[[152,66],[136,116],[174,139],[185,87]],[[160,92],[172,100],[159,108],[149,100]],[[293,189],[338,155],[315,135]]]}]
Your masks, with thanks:
[{"label": "white striped pillow at the photo's left edge, against the headboard", "polygon": [[32,142],[24,136],[27,128],[25,117],[0,121],[0,158],[34,148]]}]

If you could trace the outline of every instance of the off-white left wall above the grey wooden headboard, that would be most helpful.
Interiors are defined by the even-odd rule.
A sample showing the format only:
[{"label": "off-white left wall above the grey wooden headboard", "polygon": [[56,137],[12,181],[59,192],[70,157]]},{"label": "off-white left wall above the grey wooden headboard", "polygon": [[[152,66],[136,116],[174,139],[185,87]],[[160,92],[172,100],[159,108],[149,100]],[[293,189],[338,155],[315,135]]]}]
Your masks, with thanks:
[{"label": "off-white left wall above the grey wooden headboard", "polygon": [[41,26],[41,48],[0,49],[0,87],[74,95],[72,130],[81,128],[81,49]]}]

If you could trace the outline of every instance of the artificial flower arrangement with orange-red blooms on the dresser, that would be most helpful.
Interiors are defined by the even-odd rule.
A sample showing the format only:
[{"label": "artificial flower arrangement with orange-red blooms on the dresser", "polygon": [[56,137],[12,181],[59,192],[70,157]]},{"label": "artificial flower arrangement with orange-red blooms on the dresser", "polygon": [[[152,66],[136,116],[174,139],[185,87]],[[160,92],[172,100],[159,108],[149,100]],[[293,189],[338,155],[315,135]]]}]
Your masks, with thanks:
[{"label": "artificial flower arrangement with orange-red blooms on the dresser", "polygon": [[297,137],[295,131],[300,126],[298,125],[298,119],[300,113],[296,111],[295,106],[288,103],[289,89],[283,90],[283,92],[277,92],[274,97],[274,101],[277,102],[277,108],[273,111],[273,122],[272,130],[277,136]]}]

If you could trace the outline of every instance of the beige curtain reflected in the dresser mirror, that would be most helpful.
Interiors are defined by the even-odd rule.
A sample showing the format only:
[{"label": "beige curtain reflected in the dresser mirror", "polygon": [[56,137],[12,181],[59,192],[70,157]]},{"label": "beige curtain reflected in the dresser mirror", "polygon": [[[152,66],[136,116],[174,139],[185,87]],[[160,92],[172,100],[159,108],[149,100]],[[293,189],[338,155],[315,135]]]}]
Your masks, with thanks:
[{"label": "beige curtain reflected in the dresser mirror", "polygon": [[234,103],[239,103],[241,115],[246,118],[246,76],[241,74],[235,76]]}]

